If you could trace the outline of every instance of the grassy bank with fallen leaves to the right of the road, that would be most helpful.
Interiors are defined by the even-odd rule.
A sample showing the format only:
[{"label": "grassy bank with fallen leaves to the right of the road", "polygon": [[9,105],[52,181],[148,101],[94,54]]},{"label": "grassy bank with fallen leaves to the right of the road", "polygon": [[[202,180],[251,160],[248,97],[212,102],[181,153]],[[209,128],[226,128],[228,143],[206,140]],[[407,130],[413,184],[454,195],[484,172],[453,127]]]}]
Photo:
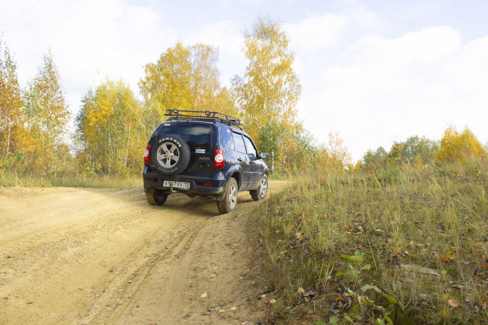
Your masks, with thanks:
[{"label": "grassy bank with fallen leaves to the right of the road", "polygon": [[481,160],[295,178],[262,206],[276,317],[488,323],[487,196]]}]

